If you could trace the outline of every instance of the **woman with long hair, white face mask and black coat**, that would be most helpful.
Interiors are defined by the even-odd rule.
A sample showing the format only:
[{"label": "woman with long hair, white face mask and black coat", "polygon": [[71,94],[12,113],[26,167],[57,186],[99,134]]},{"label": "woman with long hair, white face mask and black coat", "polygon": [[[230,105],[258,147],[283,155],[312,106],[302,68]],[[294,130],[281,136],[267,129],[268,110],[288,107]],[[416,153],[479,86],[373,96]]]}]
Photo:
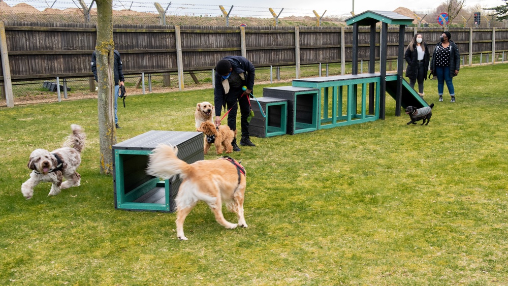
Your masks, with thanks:
[{"label": "woman with long hair, white face mask and black coat", "polygon": [[406,77],[409,78],[409,85],[415,88],[418,81],[418,94],[423,98],[423,81],[427,79],[429,70],[429,48],[423,41],[422,34],[416,34],[407,45],[404,59],[407,62]]}]

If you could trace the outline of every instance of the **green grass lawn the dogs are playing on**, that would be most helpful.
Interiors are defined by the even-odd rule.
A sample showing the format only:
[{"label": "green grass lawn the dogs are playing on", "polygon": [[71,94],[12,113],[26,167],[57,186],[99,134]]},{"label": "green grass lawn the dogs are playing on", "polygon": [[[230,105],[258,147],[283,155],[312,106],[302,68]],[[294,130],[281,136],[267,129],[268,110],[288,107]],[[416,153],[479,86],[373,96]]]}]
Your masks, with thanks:
[{"label": "green grass lawn the dogs are playing on", "polygon": [[[386,120],[252,138],[232,154],[249,227],[226,230],[200,203],[188,241],[174,213],[115,210],[97,100],[1,108],[0,284],[506,285],[506,77],[508,65],[462,68],[455,104],[427,80],[428,126],[406,125],[388,96]],[[212,89],[130,96],[117,140],[193,131],[202,101]],[[41,183],[25,200],[30,152],[59,147],[72,123],[88,137],[81,186],[47,197]]]}]

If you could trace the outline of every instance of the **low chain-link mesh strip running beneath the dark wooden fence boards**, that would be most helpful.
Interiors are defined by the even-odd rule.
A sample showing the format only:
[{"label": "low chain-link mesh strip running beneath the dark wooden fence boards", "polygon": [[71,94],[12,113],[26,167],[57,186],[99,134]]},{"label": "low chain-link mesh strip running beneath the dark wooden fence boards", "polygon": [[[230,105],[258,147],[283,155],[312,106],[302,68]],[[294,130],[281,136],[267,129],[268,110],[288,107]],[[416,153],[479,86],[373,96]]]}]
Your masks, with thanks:
[{"label": "low chain-link mesh strip running beneath the dark wooden fence boards", "polygon": [[[495,53],[494,62],[504,63],[508,53]],[[492,53],[481,53],[473,55],[472,65],[486,65],[492,63]],[[368,73],[368,60],[360,60],[358,63],[358,72]],[[461,56],[461,65],[469,65],[469,57]],[[374,69],[376,72],[380,70],[379,61],[375,62]],[[405,66],[404,66],[405,70]],[[396,73],[397,59],[388,59],[388,73]],[[346,62],[344,65],[344,73],[351,74],[352,64]],[[320,77],[320,76],[336,76],[341,75],[342,66],[337,63],[321,63],[313,65],[302,65],[300,67],[300,78]],[[260,67],[256,69],[256,83],[279,83],[291,82],[296,78],[295,66],[281,67]],[[187,89],[204,89],[213,88],[213,70],[185,72],[183,75],[184,90]],[[53,83],[57,86],[57,81],[39,80],[29,82],[13,82],[12,89],[14,93],[14,104],[19,105],[24,102],[57,102],[66,99],[81,99],[97,97],[96,83],[93,78],[73,78],[58,79],[60,85],[60,95],[58,96],[57,88],[49,90],[47,83]],[[129,96],[135,94],[147,94],[155,92],[170,92],[179,90],[178,75],[174,73],[154,73],[154,74],[133,74],[125,75],[125,88]],[[262,92],[256,90],[255,92]],[[0,106],[6,106],[5,98],[0,99]]]}]

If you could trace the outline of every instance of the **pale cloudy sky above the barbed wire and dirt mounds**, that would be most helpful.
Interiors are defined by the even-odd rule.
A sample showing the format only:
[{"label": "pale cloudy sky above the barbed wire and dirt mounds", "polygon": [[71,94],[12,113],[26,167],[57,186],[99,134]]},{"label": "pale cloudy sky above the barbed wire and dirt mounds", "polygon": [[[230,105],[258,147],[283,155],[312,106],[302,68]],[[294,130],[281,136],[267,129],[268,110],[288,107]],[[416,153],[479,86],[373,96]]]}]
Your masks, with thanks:
[{"label": "pale cloudy sky above the barbed wire and dirt mounds", "polygon": [[[14,6],[19,3],[29,4],[39,10],[44,10],[50,6],[57,9],[66,8],[81,8],[78,0],[0,0],[7,3],[9,6]],[[84,0],[88,6],[92,3],[92,0]],[[360,14],[367,10],[379,10],[379,11],[393,11],[398,7],[405,7],[415,12],[428,12],[429,10],[435,9],[444,0],[417,0],[417,1],[401,1],[401,0],[322,0],[312,2],[308,0],[256,0],[256,1],[245,1],[238,2],[237,0],[189,0],[189,1],[168,1],[168,0],[113,0],[113,6],[115,10],[129,9],[138,12],[156,12],[154,2],[159,3],[164,9],[171,5],[168,9],[168,14],[173,13],[194,13],[194,14],[221,14],[218,9],[219,5],[222,5],[227,11],[234,6],[231,12],[231,16],[234,14],[239,16],[270,16],[268,8],[272,8],[276,14],[281,12],[280,17],[285,16],[303,16],[313,15],[312,10],[315,10],[317,14],[325,16],[332,15],[351,15],[353,11],[356,14]],[[480,5],[482,8],[489,8],[499,5],[504,5],[505,2],[502,0],[466,0],[465,6]],[[96,5],[94,4],[95,8]],[[443,11],[444,12],[444,11]],[[301,15],[298,15],[301,14]]]}]

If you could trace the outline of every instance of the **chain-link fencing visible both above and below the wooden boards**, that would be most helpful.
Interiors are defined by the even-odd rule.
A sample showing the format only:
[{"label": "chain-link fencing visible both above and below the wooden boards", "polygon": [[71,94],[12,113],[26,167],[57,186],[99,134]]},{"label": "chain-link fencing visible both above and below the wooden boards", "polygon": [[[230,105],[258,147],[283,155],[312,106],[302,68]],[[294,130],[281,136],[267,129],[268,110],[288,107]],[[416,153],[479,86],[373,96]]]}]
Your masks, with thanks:
[{"label": "chain-link fencing visible both above and below the wooden boards", "polygon": [[[10,1],[16,3],[16,1]],[[44,5],[40,2],[41,5]],[[58,2],[55,2],[58,3]],[[130,3],[131,5],[120,5],[120,2],[114,2],[113,24],[136,24],[136,25],[201,25],[201,26],[345,26],[344,20],[351,15],[331,15],[323,16],[321,20],[318,17],[301,9],[283,9],[282,15],[292,15],[289,17],[276,18],[270,14],[268,8],[261,7],[231,7],[231,15],[226,16],[225,11],[221,11],[217,5],[189,5],[189,4],[170,4],[166,13],[157,13],[156,11],[148,11],[154,8],[151,3]],[[9,7],[5,2],[0,1],[0,21],[29,21],[29,22],[57,22],[57,23],[97,23],[97,12],[95,9],[90,10],[87,15],[84,9],[63,7],[59,9],[44,9],[39,11],[34,7],[24,4]],[[19,6],[19,7],[18,7]],[[165,6],[165,5],[163,5]],[[31,9],[30,9],[31,7]],[[44,7],[37,7],[43,9]],[[229,7],[225,7],[229,10]],[[122,10],[118,10],[122,9]],[[134,11],[136,10],[136,11]],[[280,8],[275,9],[276,12],[282,12]],[[309,16],[309,14],[311,16]],[[296,15],[296,16],[295,16]],[[438,14],[425,14],[423,18],[418,18],[420,22],[415,26],[438,26]],[[506,21],[496,22],[492,16],[483,14],[480,27],[488,26],[506,26]],[[473,24],[472,17],[454,20],[452,26],[477,27]],[[504,52],[482,53],[474,55],[472,65],[485,64],[492,62],[494,56],[495,62],[504,62]],[[462,65],[468,65],[468,56],[462,56]],[[376,71],[379,71],[379,62],[376,62]],[[396,59],[388,60],[389,71],[396,71]],[[340,75],[342,67],[340,63],[323,63],[304,65],[300,67],[300,78],[317,77],[317,76],[333,76]],[[345,73],[351,73],[351,63],[345,63]],[[359,62],[359,73],[366,73],[368,70],[368,61]],[[194,71],[184,72],[183,82],[185,89],[189,88],[211,88],[213,87],[213,71]],[[260,67],[256,69],[257,83],[276,83],[291,81],[296,78],[295,66],[283,67]],[[59,79],[60,94],[56,91],[48,89],[48,83],[51,82],[57,86],[56,79],[53,81],[29,81],[29,82],[13,82],[13,93],[15,104],[21,104],[26,101],[38,99],[46,102],[56,102],[62,99],[73,98],[91,98],[97,96],[95,90],[96,84],[91,78],[73,78]],[[128,94],[144,94],[150,92],[167,92],[178,90],[178,76],[174,73],[154,73],[154,74],[137,74],[126,75],[125,86]],[[3,87],[2,87],[3,88]],[[260,92],[260,91],[256,91]],[[2,92],[5,94],[5,92]],[[0,99],[0,106],[5,106],[5,98]]]}]

